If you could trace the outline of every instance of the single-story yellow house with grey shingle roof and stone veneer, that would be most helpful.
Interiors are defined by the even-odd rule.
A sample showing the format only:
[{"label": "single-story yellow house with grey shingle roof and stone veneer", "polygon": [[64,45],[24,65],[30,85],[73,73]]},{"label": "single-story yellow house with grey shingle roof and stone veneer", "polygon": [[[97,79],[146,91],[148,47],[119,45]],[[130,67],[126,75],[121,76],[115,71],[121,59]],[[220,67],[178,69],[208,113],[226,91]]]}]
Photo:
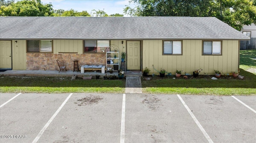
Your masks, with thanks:
[{"label": "single-story yellow house with grey shingle roof and stone veneer", "polygon": [[127,70],[230,73],[249,39],[214,17],[0,17],[0,68],[58,70],[57,59],[67,70],[74,59],[106,65],[102,48],[116,45]]}]

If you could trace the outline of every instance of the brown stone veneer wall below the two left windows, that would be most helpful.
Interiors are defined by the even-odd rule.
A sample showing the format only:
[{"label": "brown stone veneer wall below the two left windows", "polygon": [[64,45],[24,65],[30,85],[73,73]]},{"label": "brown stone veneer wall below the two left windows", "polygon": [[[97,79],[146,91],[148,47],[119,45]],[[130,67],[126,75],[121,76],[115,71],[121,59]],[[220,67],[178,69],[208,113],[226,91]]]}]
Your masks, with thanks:
[{"label": "brown stone veneer wall below the two left windows", "polygon": [[72,70],[74,60],[78,60],[78,67],[82,65],[106,65],[105,53],[27,53],[26,70],[59,70],[56,60],[64,62],[66,69]]}]

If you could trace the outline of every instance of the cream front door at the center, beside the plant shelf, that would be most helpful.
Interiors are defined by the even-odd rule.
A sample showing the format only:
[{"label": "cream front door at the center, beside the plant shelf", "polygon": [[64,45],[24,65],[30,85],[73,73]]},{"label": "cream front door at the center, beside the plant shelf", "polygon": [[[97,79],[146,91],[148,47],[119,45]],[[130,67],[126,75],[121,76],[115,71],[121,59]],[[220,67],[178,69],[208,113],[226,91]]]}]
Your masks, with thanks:
[{"label": "cream front door at the center, beside the plant shelf", "polygon": [[140,70],[140,41],[127,41],[127,69]]}]

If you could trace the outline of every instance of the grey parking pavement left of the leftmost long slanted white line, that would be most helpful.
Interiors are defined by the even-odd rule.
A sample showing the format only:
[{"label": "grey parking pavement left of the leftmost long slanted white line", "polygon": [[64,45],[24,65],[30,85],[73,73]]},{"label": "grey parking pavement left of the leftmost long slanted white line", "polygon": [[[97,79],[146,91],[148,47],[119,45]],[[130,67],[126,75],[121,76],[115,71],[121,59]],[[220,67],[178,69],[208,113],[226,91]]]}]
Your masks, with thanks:
[{"label": "grey parking pavement left of the leftmost long slanted white line", "polygon": [[[16,94],[1,94],[1,100],[12,98],[11,95]],[[67,96],[68,94],[20,94],[2,106],[0,142],[31,143]],[[5,135],[8,138],[3,137]]]}]

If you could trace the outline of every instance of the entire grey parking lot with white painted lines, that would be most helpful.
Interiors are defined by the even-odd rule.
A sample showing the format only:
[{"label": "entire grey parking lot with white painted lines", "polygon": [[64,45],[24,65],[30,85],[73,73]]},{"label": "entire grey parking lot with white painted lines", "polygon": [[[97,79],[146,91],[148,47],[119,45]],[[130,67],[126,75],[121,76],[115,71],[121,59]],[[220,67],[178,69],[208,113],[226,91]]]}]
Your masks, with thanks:
[{"label": "entire grey parking lot with white painted lines", "polygon": [[[256,110],[256,96],[235,97]],[[253,110],[232,96],[20,94],[0,108],[0,142],[254,143]]]}]

